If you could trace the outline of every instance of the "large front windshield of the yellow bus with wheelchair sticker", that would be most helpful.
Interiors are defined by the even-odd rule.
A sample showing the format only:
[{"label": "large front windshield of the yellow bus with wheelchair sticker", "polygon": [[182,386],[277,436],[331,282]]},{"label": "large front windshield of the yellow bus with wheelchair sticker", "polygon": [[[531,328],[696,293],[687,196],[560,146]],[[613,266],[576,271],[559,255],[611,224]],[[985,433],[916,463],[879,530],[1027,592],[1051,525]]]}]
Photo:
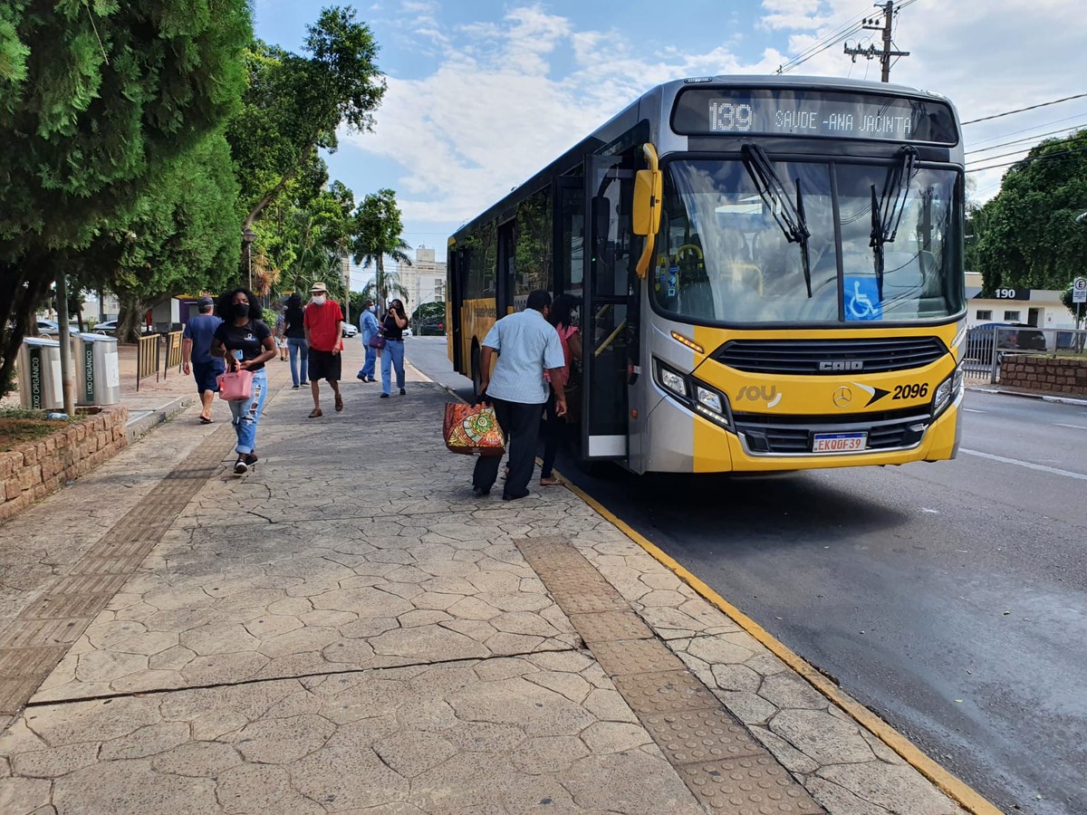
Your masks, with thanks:
[{"label": "large front windshield of the yellow bus with wheelchair sticker", "polygon": [[[750,161],[666,165],[650,280],[658,311],[697,323],[840,325],[962,310],[958,173],[908,162],[902,177],[901,159],[771,163],[776,191]],[[894,193],[896,228],[877,230]]]}]

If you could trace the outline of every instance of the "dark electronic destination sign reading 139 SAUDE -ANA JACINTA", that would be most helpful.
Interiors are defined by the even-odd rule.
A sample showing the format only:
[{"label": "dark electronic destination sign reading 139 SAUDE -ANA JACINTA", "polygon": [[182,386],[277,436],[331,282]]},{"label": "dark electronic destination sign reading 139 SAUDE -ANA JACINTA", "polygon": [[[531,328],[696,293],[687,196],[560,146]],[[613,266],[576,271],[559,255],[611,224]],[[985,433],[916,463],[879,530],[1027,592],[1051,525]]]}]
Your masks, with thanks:
[{"label": "dark electronic destination sign reading 139 SAUDE -ANA JACINTA", "polygon": [[673,127],[688,136],[959,141],[951,109],[935,99],[788,88],[691,88],[676,100]]}]

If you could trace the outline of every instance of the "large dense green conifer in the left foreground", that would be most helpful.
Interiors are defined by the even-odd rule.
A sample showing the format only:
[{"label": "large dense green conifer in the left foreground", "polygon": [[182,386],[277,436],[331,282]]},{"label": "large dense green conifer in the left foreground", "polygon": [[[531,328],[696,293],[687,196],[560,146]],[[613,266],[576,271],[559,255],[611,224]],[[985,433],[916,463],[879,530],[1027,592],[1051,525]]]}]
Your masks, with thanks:
[{"label": "large dense green conifer in the left foreground", "polygon": [[236,110],[251,36],[247,0],[0,3],[0,381],[70,250]]}]

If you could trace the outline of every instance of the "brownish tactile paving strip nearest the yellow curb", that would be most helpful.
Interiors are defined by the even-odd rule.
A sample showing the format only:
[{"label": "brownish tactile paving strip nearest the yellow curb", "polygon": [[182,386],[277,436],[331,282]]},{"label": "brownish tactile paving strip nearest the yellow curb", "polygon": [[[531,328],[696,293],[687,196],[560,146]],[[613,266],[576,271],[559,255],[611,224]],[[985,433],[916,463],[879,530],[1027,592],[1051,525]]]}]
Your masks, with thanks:
[{"label": "brownish tactile paving strip nearest the yellow curb", "polygon": [[823,812],[576,548],[553,537],[525,538],[517,548],[708,811]]}]

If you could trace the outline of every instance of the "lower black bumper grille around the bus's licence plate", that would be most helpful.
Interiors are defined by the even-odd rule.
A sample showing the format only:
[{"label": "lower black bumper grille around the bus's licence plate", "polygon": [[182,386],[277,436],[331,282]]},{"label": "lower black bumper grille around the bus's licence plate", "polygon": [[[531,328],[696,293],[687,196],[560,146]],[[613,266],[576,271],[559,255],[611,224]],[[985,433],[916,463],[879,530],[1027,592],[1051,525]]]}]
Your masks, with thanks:
[{"label": "lower black bumper grille around the bus's licence plate", "polygon": [[[852,416],[769,416],[734,413],[736,432],[753,455],[805,455],[817,432],[866,432],[865,451],[915,447],[932,417],[916,411],[887,411]],[[825,455],[825,453],[820,453]]]}]

